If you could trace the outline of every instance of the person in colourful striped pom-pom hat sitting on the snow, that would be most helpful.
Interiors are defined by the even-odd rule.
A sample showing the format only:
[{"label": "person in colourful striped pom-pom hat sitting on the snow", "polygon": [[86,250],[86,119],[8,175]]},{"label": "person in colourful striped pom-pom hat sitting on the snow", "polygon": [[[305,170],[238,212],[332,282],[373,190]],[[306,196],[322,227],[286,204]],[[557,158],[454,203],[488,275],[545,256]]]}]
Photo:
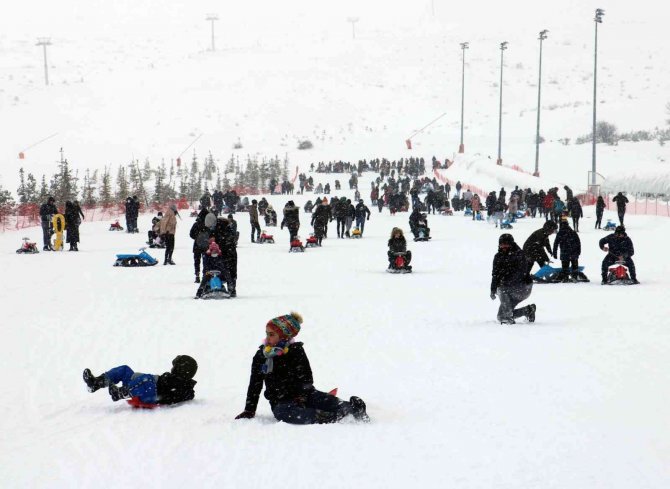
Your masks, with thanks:
[{"label": "person in colourful striped pom-pom hat sitting on the snow", "polygon": [[358,397],[349,402],[314,388],[312,369],[302,343],[295,342],[302,317],[296,312],[279,316],[265,326],[266,338],[251,363],[251,377],[244,411],[235,419],[251,419],[263,383],[265,398],[275,418],[291,424],[336,423],[348,415],[369,421],[365,403]]}]

